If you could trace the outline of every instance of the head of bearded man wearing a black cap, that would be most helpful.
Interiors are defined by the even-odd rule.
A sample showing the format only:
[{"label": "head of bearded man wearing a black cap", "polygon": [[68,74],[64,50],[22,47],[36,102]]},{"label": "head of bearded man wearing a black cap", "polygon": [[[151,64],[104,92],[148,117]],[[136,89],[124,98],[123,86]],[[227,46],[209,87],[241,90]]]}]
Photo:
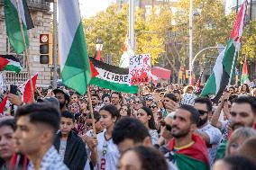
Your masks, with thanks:
[{"label": "head of bearded man wearing a black cap", "polygon": [[54,89],[53,94],[59,100],[59,112],[68,111],[67,105],[69,104],[69,92],[59,88]]}]

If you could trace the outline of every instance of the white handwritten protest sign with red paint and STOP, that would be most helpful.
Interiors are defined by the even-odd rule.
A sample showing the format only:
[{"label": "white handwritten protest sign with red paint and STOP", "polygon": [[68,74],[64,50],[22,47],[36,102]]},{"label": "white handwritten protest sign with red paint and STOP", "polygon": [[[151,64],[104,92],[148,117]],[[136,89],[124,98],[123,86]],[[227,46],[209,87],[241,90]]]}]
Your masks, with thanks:
[{"label": "white handwritten protest sign with red paint and STOP", "polygon": [[146,84],[151,81],[151,54],[130,57],[130,85]]}]

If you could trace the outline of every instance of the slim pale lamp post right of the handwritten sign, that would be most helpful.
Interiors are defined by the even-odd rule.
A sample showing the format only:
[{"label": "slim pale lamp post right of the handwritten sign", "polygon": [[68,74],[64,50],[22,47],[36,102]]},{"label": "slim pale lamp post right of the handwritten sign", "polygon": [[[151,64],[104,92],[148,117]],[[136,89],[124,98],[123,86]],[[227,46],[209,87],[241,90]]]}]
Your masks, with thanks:
[{"label": "slim pale lamp post right of the handwritten sign", "polygon": [[193,0],[189,5],[189,82],[192,79],[192,58],[193,58]]}]

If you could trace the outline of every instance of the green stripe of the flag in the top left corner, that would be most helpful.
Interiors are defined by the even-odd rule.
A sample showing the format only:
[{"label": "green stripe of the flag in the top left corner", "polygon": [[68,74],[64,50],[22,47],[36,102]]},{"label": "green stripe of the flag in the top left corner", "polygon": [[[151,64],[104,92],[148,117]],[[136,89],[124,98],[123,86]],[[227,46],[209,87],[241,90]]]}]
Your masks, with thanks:
[{"label": "green stripe of the flag in the top left corner", "polygon": [[[6,32],[10,44],[13,46],[17,54],[23,53],[25,46],[23,44],[23,35],[20,28],[18,11],[11,0],[5,0],[5,25]],[[26,41],[26,46],[29,46],[29,39],[26,25],[23,23],[23,31]]]}]

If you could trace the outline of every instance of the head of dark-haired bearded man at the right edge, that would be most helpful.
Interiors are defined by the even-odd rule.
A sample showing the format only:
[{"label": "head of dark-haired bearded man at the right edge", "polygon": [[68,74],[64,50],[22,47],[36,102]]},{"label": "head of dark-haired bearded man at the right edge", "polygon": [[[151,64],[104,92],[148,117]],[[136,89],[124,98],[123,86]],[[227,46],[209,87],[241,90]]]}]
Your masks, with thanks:
[{"label": "head of dark-haired bearded man at the right edge", "polygon": [[256,100],[251,96],[240,96],[233,101],[231,107],[231,128],[240,127],[255,129],[256,124]]}]

